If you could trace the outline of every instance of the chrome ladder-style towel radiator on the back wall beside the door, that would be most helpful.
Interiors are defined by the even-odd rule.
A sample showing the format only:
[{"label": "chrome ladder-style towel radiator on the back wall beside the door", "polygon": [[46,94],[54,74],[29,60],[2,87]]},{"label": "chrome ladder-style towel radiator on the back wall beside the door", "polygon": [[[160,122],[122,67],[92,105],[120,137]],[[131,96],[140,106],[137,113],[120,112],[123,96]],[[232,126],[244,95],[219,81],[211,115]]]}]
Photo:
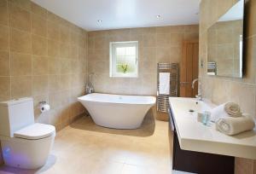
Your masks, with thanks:
[{"label": "chrome ladder-style towel radiator on the back wall beside the door", "polygon": [[[160,95],[160,73],[170,73],[170,93],[169,95]],[[157,111],[168,113],[169,97],[177,96],[178,84],[178,64],[177,63],[158,63],[157,64]]]}]

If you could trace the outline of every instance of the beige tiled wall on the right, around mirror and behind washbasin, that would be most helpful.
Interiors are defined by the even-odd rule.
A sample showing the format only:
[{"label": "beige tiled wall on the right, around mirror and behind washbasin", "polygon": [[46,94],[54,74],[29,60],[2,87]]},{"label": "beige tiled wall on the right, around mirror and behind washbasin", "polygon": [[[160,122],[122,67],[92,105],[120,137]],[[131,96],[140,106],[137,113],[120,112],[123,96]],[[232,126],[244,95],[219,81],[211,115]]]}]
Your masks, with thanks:
[{"label": "beige tiled wall on the right, around mirror and behind washbasin", "polygon": [[[202,93],[217,104],[237,102],[243,112],[256,118],[256,1],[246,2],[246,41],[244,78],[207,76],[207,29],[237,0],[202,0],[200,7],[200,59],[205,66],[200,69]],[[255,174],[256,162],[252,159],[236,159],[236,174]]]}]

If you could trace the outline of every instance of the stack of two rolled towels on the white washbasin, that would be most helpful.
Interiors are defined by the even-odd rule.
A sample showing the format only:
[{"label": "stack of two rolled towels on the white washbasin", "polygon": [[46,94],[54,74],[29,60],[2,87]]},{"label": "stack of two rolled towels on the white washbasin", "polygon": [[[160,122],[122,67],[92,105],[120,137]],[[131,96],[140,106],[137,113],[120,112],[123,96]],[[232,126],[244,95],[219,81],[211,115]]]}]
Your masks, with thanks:
[{"label": "stack of two rolled towels on the white washbasin", "polygon": [[241,113],[241,108],[234,102],[215,107],[211,113],[211,120],[216,123],[216,129],[229,136],[252,131],[255,126],[253,118]]}]

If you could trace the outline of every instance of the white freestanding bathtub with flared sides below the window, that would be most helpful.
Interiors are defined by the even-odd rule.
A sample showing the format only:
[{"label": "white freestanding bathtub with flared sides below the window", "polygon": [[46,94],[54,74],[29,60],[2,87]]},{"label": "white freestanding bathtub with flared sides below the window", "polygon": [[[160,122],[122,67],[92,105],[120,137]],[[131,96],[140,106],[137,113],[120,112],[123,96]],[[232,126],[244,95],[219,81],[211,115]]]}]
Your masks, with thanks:
[{"label": "white freestanding bathtub with flared sides below the window", "polygon": [[120,96],[92,93],[78,98],[96,125],[114,129],[137,129],[148,110],[154,106],[154,96]]}]

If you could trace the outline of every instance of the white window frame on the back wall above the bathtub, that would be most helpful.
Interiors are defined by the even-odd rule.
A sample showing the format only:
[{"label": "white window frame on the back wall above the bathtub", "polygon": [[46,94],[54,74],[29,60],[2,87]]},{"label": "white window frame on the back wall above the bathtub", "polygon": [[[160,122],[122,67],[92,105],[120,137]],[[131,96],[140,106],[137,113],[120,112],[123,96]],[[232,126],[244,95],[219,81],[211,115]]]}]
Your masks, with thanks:
[{"label": "white window frame on the back wall above the bathtub", "polygon": [[[116,70],[116,48],[117,47],[136,48],[136,70],[134,73],[117,73]],[[137,78],[138,77],[138,41],[110,42],[109,43],[109,76],[111,78]]]}]

